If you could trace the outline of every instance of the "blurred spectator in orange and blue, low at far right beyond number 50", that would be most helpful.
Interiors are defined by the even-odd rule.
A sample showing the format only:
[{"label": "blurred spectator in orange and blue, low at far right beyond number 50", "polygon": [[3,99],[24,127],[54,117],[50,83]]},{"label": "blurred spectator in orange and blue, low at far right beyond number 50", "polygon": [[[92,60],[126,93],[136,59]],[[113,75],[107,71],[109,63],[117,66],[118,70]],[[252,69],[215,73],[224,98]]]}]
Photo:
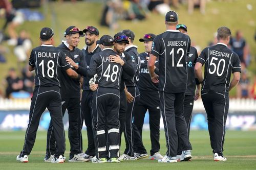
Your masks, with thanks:
[{"label": "blurred spectator in orange and blue, low at far right beyond number 50", "polygon": [[247,70],[242,70],[241,79],[237,85],[237,98],[249,98],[250,80],[247,75]]}]

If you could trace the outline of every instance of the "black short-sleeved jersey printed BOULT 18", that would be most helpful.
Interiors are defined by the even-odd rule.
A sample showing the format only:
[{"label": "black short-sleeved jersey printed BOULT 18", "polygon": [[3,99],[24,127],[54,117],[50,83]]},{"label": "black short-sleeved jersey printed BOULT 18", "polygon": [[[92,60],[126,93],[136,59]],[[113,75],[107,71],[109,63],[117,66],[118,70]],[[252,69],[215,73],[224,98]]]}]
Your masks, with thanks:
[{"label": "black short-sleeved jersey printed BOULT 18", "polygon": [[[61,86],[59,70],[66,71],[70,64],[57,47],[42,44],[31,51],[29,65],[35,67],[35,86]],[[66,74],[66,72],[65,72]]]}]

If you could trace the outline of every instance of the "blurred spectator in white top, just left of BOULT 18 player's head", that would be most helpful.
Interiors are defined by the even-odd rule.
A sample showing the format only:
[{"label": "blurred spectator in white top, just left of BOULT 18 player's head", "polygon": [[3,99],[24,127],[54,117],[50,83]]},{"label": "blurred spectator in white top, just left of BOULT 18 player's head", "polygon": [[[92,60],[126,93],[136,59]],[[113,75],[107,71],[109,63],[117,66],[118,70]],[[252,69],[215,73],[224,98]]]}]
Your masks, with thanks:
[{"label": "blurred spectator in white top, just left of BOULT 18 player's head", "polygon": [[20,31],[17,39],[17,45],[14,47],[14,54],[18,59],[19,70],[22,70],[24,64],[27,63],[31,48],[32,41],[30,40],[29,33],[26,30]]}]

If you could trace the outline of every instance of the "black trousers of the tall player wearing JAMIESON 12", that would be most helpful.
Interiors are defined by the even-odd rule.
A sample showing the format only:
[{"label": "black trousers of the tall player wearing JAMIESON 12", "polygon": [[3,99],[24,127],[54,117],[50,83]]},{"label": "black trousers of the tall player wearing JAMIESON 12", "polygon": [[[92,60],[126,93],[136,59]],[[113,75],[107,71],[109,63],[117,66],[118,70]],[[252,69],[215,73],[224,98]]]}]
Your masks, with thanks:
[{"label": "black trousers of the tall player wearing JAMIESON 12", "polygon": [[159,91],[160,108],[163,117],[167,152],[170,157],[177,156],[178,135],[182,151],[191,150],[188,139],[187,125],[183,116],[184,92],[166,93]]}]

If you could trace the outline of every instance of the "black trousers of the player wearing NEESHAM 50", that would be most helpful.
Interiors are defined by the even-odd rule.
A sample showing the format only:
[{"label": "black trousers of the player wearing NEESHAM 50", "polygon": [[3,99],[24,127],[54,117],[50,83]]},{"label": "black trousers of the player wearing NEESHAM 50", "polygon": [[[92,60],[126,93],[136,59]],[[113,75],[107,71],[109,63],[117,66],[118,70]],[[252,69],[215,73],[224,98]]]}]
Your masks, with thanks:
[{"label": "black trousers of the player wearing NEESHAM 50", "polygon": [[222,154],[229,108],[229,94],[217,92],[203,93],[201,96],[207,113],[211,148],[213,153]]}]

